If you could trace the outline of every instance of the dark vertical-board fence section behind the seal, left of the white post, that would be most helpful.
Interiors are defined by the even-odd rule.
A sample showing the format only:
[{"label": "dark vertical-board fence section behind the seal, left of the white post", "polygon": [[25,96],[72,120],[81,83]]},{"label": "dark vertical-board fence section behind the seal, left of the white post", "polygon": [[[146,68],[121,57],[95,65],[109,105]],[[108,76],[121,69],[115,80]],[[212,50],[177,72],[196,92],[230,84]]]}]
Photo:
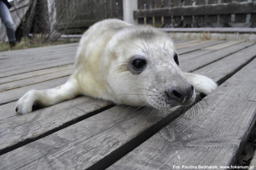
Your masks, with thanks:
[{"label": "dark vertical-board fence section behind the seal, left of the white post", "polygon": [[55,0],[59,28],[75,17],[69,28],[82,28],[106,18],[122,19],[122,0]]}]

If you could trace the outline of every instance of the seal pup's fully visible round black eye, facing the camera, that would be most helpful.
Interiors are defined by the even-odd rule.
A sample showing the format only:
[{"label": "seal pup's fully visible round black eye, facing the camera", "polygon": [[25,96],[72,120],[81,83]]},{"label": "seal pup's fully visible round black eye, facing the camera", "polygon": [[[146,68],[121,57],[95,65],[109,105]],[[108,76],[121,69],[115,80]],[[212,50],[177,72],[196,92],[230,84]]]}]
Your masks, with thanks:
[{"label": "seal pup's fully visible round black eye, facing the camera", "polygon": [[133,74],[140,74],[145,70],[147,66],[147,60],[144,56],[136,55],[131,57],[128,62],[128,70]]}]

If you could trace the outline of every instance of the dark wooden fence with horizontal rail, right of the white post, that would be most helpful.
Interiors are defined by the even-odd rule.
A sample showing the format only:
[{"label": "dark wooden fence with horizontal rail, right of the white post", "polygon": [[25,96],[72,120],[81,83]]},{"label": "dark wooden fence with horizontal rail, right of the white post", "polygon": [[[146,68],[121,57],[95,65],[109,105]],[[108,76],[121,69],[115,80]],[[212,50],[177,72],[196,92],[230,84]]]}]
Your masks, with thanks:
[{"label": "dark wooden fence with horizontal rail, right of the white post", "polygon": [[256,3],[254,0],[138,0],[134,17],[138,23],[164,27],[256,27]]}]

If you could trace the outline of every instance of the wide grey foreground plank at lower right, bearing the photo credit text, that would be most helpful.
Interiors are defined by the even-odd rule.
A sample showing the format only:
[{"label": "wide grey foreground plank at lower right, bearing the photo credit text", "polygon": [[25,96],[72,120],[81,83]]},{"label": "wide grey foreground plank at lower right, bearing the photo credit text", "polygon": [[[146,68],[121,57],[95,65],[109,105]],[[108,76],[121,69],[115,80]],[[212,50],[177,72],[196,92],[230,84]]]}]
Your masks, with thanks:
[{"label": "wide grey foreground plank at lower right, bearing the photo credit text", "polygon": [[108,170],[235,164],[255,124],[256,102],[250,101],[256,100],[255,65],[254,59],[209,94],[203,113],[176,119]]}]

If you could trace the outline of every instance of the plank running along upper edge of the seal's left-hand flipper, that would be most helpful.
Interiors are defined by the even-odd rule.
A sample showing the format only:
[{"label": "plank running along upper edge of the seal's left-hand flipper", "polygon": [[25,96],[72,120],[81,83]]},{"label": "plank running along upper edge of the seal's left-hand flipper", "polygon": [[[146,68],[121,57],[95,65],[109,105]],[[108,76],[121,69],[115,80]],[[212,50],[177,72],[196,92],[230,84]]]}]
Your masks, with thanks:
[{"label": "plank running along upper edge of the seal's left-hand flipper", "polygon": [[[21,96],[23,96],[27,91],[35,89],[35,90],[43,90],[47,88],[55,88],[58,85],[62,85],[65,82],[67,82],[67,77],[61,77],[58,79],[49,80],[47,82],[40,82],[34,85],[28,85],[21,88],[16,88],[9,91],[1,92],[0,96],[0,105],[3,105],[4,103],[13,102],[17,99],[19,99]],[[13,108],[15,109],[15,108]]]}]

